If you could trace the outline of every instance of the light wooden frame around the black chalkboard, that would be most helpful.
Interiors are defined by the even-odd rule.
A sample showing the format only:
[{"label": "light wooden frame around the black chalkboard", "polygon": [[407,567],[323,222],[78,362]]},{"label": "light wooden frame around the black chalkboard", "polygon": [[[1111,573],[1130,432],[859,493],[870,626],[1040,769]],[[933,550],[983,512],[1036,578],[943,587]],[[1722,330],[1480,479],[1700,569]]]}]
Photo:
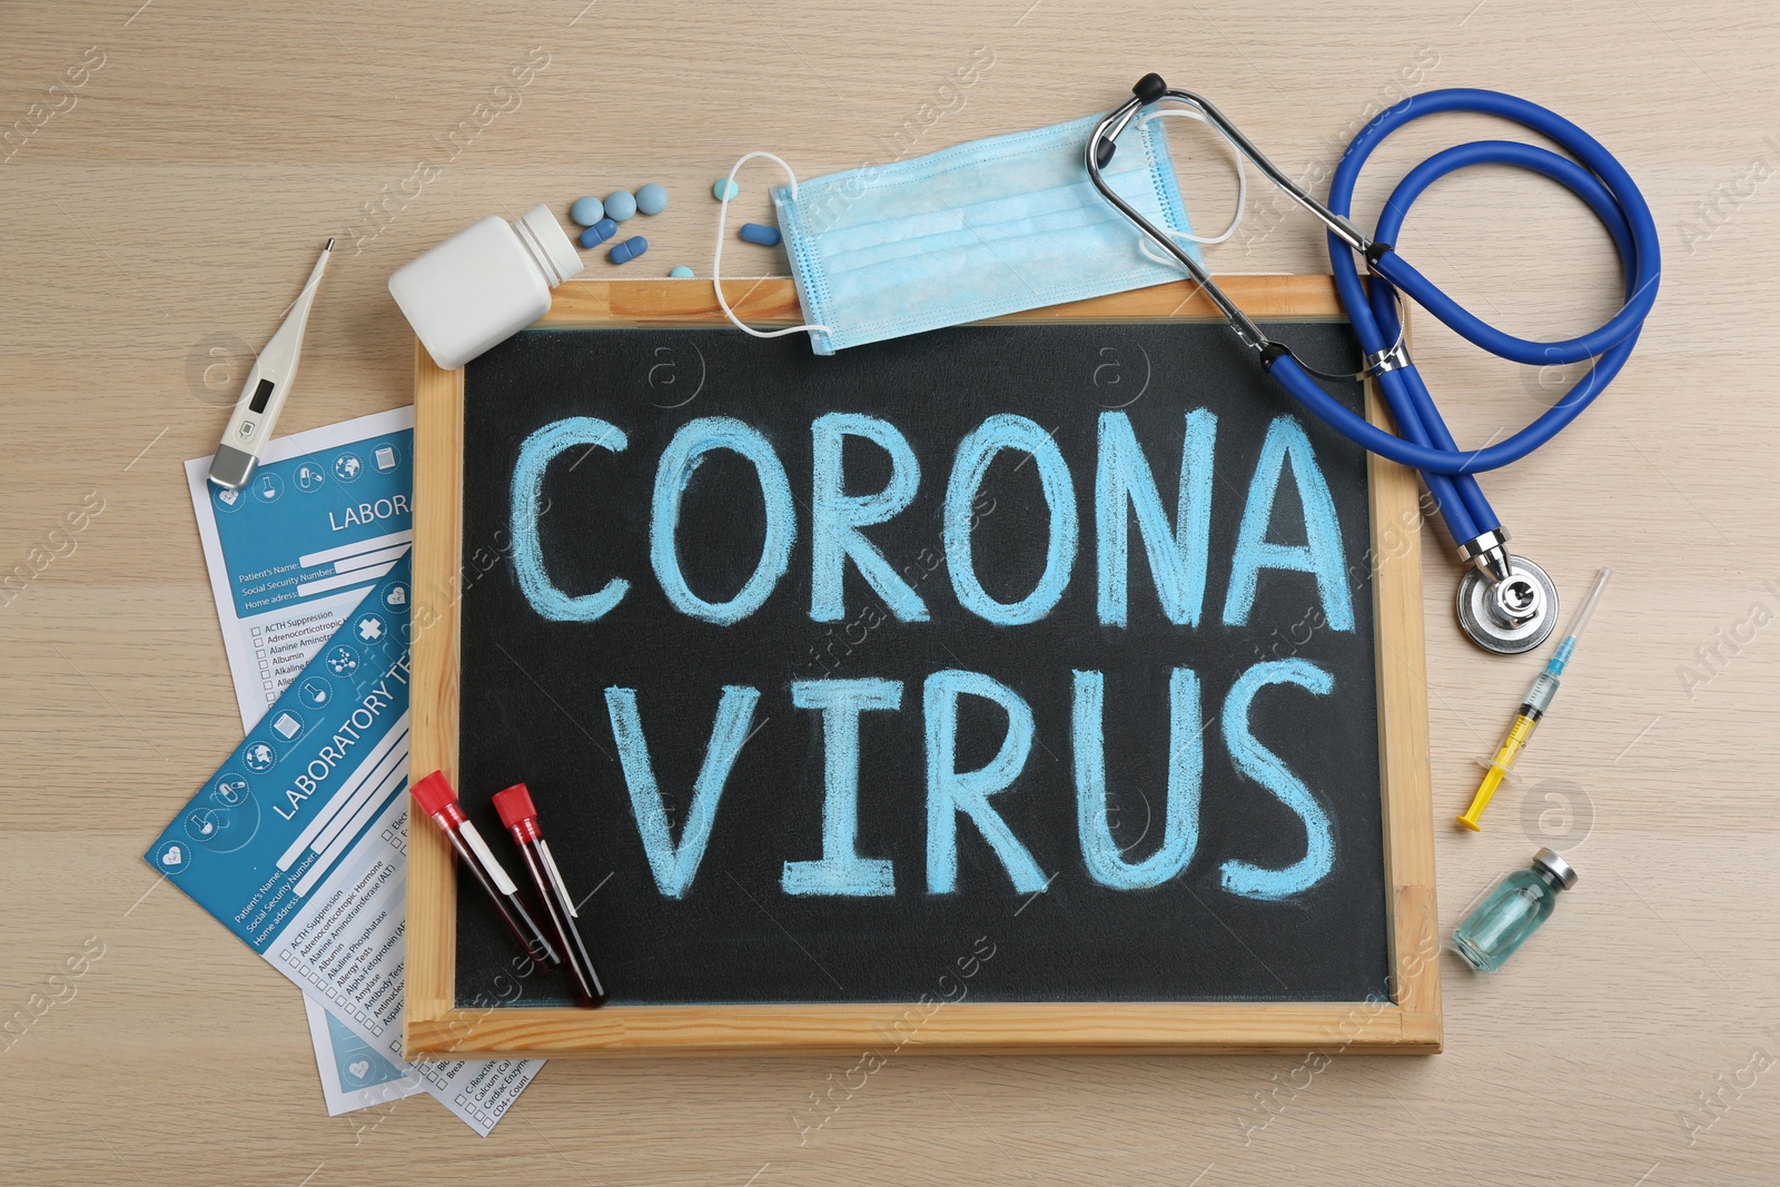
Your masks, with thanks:
[{"label": "light wooden frame around the black chalkboard", "polygon": [[[1228,276],[1225,290],[1258,322],[1344,320],[1328,276]],[[732,281],[749,324],[797,324],[789,279]],[[1216,319],[1203,290],[1162,285],[1032,310],[1000,322]],[[578,281],[555,290],[539,322],[575,326],[723,324],[705,281]],[[415,343],[413,739],[409,771],[457,781],[459,578],[465,372],[440,370]],[[1367,384],[1367,415],[1385,422]],[[1431,1054],[1442,1045],[1435,916],[1428,676],[1422,639],[1420,505],[1415,475],[1369,464],[1376,562],[1380,787],[1383,794],[1390,1000],[1372,1002],[956,1002],[609,1005],[600,1011],[456,1005],[456,865],[438,829],[408,836],[409,1059],[463,1055],[902,1052],[1290,1052]],[[904,1030],[894,1030],[902,1021]]]}]

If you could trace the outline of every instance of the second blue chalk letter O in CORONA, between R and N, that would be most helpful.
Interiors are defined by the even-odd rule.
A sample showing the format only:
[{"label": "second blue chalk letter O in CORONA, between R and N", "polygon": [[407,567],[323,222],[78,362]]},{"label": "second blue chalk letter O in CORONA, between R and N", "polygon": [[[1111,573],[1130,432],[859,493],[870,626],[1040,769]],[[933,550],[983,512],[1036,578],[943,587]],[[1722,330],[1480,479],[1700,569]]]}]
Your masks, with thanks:
[{"label": "second blue chalk letter O in CORONA, between R and N", "polygon": [[[1032,456],[1032,461],[1038,463],[1038,480],[1045,491],[1045,502],[1050,505],[1050,545],[1045,550],[1045,571],[1032,593],[1013,603],[990,598],[983,582],[977,580],[975,559],[970,553],[972,505],[984,475],[988,475],[990,463],[1004,448],[1018,448]],[[1038,427],[1038,422],[1006,413],[990,416],[958,443],[952,477],[945,484],[943,536],[945,566],[952,573],[952,591],[967,610],[997,626],[1024,626],[1050,614],[1050,609],[1063,598],[1063,587],[1070,584],[1077,530],[1075,484],[1070,480],[1070,468],[1063,461],[1063,450],[1057,448],[1048,432]]]}]

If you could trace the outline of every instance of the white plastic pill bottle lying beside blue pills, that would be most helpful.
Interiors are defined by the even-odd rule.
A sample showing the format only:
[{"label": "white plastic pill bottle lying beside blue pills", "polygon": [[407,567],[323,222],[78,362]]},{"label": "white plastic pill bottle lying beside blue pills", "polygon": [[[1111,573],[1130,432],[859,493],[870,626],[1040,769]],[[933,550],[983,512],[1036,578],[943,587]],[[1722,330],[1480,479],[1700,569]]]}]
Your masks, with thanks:
[{"label": "white plastic pill bottle lying beside blue pills", "polygon": [[390,295],[433,361],[452,370],[543,317],[550,290],[582,267],[550,206],[532,206],[511,222],[477,219],[404,263]]}]

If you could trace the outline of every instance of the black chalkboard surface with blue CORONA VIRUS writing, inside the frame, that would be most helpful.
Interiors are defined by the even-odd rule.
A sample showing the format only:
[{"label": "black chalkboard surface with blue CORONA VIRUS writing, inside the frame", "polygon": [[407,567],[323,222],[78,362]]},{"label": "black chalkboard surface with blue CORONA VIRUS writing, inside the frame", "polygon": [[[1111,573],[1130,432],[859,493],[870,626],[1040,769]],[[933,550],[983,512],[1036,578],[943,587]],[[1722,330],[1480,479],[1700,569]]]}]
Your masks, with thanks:
[{"label": "black chalkboard surface with blue CORONA VIRUS writing, inside the frame", "polygon": [[461,400],[454,781],[491,836],[529,785],[612,1005],[466,893],[447,1009],[1401,997],[1376,585],[1415,521],[1219,322],[546,320]]}]

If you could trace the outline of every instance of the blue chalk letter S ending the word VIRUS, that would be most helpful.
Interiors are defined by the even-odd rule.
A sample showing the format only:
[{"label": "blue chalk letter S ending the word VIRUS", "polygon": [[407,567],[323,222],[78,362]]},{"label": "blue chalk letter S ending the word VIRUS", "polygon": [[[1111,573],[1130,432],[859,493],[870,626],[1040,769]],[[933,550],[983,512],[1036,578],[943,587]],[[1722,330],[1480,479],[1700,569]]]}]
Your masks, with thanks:
[{"label": "blue chalk letter S ending the word VIRUS", "polygon": [[1285,899],[1310,890],[1335,865],[1335,840],[1328,813],[1310,788],[1280,762],[1278,755],[1248,731],[1248,708],[1255,694],[1271,683],[1294,683],[1317,696],[1328,696],[1335,678],[1308,660],[1267,660],[1242,673],[1225,699],[1225,744],[1237,771],[1278,795],[1305,824],[1305,856],[1283,870],[1264,870],[1248,861],[1223,863],[1223,886],[1250,899]]}]

